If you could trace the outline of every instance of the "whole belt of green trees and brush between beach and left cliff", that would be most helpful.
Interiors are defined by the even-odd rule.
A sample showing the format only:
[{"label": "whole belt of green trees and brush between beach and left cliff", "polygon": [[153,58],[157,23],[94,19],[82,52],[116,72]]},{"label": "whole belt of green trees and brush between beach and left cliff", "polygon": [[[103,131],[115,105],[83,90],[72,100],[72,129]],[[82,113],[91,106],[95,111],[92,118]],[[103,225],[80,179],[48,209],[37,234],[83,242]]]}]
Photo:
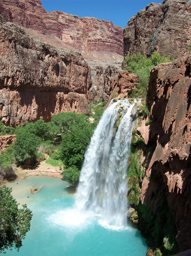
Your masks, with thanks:
[{"label": "whole belt of green trees and brush between beach and left cliff", "polygon": [[[98,104],[94,109],[96,120],[103,113],[106,102]],[[38,160],[45,160],[47,154],[48,164],[59,166],[62,171],[65,169],[63,178],[72,184],[77,183],[84,152],[95,126],[84,114],[62,112],[53,115],[49,123],[40,119],[35,123],[27,122],[25,127],[16,128],[15,144],[0,153],[0,178],[14,174],[14,162],[29,168]]]}]

